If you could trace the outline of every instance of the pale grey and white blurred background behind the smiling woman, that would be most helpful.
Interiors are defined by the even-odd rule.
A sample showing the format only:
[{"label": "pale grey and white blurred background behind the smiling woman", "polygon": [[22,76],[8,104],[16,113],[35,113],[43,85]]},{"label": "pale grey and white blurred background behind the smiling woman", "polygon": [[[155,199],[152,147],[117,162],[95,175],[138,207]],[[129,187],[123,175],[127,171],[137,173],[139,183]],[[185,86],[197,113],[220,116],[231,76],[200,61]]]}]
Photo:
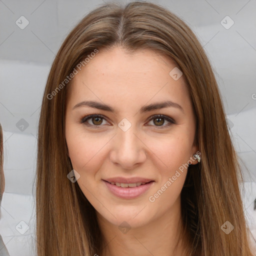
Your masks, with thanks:
[{"label": "pale grey and white blurred background behind the smiling woman", "polygon": [[[0,0],[0,122],[5,174],[0,233],[10,256],[35,255],[37,123],[50,65],[67,33],[103,2]],[[256,239],[256,0],[151,2],[182,18],[209,57],[240,157],[244,212]]]}]

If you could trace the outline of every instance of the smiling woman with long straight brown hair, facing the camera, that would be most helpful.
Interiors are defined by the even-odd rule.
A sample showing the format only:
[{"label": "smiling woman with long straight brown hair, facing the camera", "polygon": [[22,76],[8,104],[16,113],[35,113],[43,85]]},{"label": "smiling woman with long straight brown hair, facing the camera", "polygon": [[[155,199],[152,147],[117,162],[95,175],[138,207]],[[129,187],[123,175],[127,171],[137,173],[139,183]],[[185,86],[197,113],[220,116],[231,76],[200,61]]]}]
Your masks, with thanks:
[{"label": "smiling woman with long straight brown hair, facing the camera", "polygon": [[38,256],[252,255],[211,66],[156,4],[104,4],[69,33],[37,157]]}]

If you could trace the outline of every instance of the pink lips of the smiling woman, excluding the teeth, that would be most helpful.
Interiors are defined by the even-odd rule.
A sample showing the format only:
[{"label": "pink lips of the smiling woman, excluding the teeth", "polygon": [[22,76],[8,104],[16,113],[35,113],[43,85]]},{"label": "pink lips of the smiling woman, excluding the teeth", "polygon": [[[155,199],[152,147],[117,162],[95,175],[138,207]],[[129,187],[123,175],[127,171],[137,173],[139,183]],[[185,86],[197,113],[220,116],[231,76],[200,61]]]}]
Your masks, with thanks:
[{"label": "pink lips of the smiling woman, excluding the teeth", "polygon": [[[106,184],[107,188],[112,192],[115,196],[123,198],[123,199],[132,199],[140,196],[142,193],[147,191],[152,183],[154,182],[151,179],[133,177],[133,178],[123,178],[123,177],[115,177],[103,180]],[[110,182],[118,182],[118,183],[145,183],[144,185],[139,185],[135,187],[121,187],[115,184],[111,184]]]}]

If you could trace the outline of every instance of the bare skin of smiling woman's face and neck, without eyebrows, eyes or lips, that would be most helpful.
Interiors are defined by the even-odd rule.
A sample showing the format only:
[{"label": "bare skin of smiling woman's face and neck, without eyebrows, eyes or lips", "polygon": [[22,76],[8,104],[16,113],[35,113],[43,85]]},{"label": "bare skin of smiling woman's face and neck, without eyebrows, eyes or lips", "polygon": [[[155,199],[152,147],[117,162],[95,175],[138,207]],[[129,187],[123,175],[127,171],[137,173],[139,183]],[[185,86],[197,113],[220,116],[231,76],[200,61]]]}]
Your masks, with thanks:
[{"label": "bare skin of smiling woman's face and neck, without eyebrows, eyes or lips", "polygon": [[[174,80],[169,72],[176,65],[165,56],[145,49],[127,54],[118,46],[99,50],[72,79],[65,116],[68,154],[80,177],[78,185],[96,209],[105,242],[105,255],[183,255],[186,236],[181,230],[180,192],[187,169],[155,199],[149,196],[198,150],[193,145],[195,116],[183,76]],[[88,106],[72,107],[83,100],[95,100],[116,109],[116,113]],[[140,107],[171,100],[183,108],[165,107],[140,113]],[[89,114],[105,116],[80,120]],[[150,119],[163,114],[174,119]],[[127,131],[118,127],[126,118]],[[170,123],[170,125],[168,125]],[[96,128],[93,128],[96,126]],[[196,164],[193,160],[192,164]],[[154,180],[137,198],[113,195],[102,179],[145,177]],[[118,226],[131,227],[123,233]],[[177,244],[176,248],[175,245]],[[175,248],[175,250],[174,250]],[[95,253],[99,253],[95,251]]]}]

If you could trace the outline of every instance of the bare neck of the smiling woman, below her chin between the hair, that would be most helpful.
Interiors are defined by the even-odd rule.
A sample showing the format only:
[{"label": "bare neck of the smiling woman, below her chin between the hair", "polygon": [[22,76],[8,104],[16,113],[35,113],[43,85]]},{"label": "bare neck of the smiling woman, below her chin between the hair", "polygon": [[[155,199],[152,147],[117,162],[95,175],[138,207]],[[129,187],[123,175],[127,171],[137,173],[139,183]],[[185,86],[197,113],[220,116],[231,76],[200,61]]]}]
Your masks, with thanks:
[{"label": "bare neck of the smiling woman, below her chin between the hair", "polygon": [[117,255],[186,255],[188,241],[183,231],[180,203],[178,211],[166,211],[161,217],[145,226],[131,227],[125,234],[118,226],[108,222],[97,213],[99,227],[103,234],[104,256]]}]

